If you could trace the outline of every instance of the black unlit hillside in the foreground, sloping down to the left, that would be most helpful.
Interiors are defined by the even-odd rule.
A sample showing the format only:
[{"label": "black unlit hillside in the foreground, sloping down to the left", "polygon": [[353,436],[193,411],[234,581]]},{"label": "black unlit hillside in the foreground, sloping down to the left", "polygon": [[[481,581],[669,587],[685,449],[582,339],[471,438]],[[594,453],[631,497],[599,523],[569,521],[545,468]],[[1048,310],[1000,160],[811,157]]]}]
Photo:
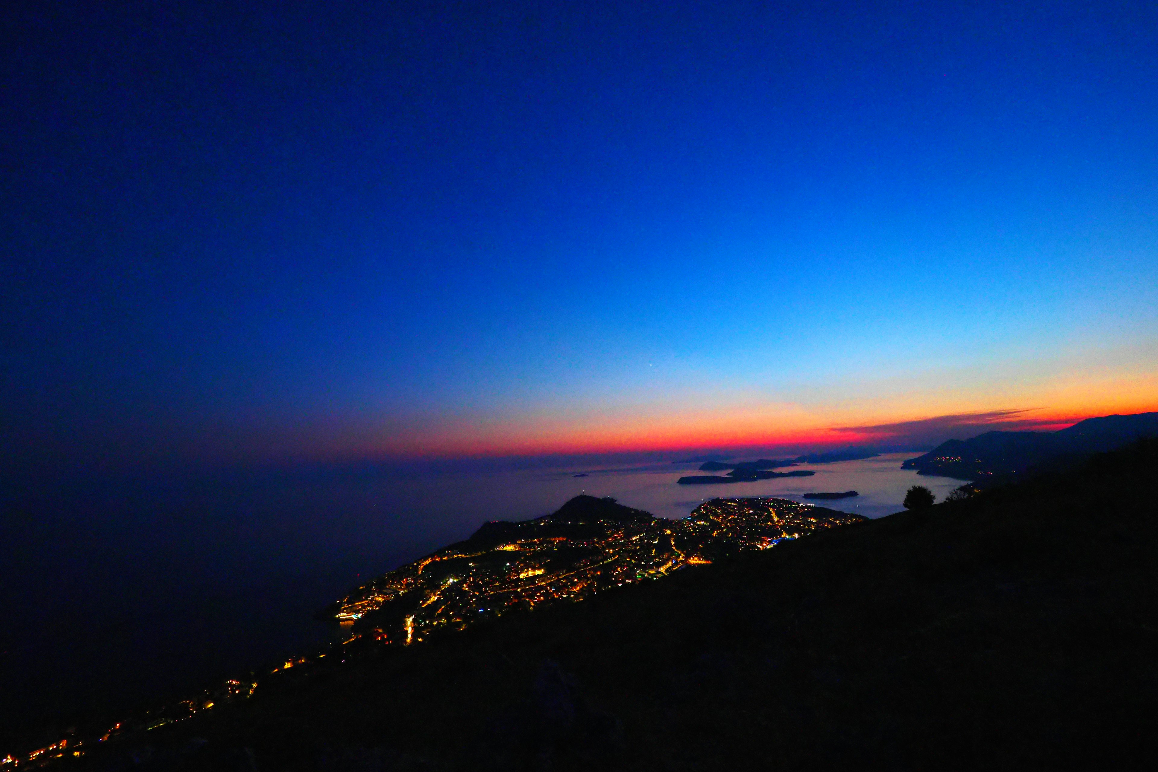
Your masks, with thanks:
[{"label": "black unlit hillside in the foreground, sloping down to the left", "polygon": [[1122,769],[1158,744],[1156,472],[1137,444],[295,668],[65,766]]}]

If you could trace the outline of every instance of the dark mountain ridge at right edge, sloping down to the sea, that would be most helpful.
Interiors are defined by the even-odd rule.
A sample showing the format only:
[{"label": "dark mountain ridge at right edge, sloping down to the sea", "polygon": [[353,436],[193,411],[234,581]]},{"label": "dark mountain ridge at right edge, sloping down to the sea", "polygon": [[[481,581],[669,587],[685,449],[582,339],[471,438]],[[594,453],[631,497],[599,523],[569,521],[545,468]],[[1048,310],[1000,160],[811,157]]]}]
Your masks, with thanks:
[{"label": "dark mountain ridge at right edge, sloping down to the sea", "polygon": [[902,468],[979,480],[1024,473],[1058,457],[1115,450],[1143,436],[1158,436],[1158,413],[1087,418],[1060,432],[985,432],[972,440],[943,442]]}]

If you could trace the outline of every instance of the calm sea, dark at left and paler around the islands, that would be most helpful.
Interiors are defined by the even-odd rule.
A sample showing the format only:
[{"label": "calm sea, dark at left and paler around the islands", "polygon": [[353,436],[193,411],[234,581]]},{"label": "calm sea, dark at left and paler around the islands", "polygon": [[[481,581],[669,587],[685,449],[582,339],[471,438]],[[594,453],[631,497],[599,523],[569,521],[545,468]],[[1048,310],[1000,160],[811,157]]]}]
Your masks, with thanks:
[{"label": "calm sea, dark at left and paler around the islands", "polygon": [[302,650],[329,634],[314,612],[350,587],[579,493],[674,519],[714,497],[856,490],[818,503],[879,517],[914,484],[938,499],[960,484],[902,470],[913,455],[710,487],[677,485],[697,464],[670,463],[50,486],[0,521],[0,723],[169,699]]}]

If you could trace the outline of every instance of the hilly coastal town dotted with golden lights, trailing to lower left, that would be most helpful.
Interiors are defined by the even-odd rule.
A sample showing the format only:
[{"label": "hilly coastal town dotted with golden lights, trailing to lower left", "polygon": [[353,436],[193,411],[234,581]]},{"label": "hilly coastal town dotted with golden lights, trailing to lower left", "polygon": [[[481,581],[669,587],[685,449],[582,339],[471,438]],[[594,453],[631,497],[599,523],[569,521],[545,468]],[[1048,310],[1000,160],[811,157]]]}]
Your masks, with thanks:
[{"label": "hilly coastal town dotted with golden lights, trailing to lower left", "polygon": [[[327,656],[332,659],[325,661],[344,661],[367,648],[409,646],[508,611],[581,601],[603,589],[864,521],[859,515],[769,498],[712,499],[682,520],[665,520],[614,499],[577,497],[552,515],[486,523],[466,542],[358,588],[331,606],[345,633],[340,639],[325,652],[286,659],[267,672],[278,677]],[[66,737],[22,757],[8,755],[0,758],[0,770],[79,758],[118,735],[159,729],[248,699],[257,686],[256,681],[226,681],[197,698],[118,722],[87,741]]]}]

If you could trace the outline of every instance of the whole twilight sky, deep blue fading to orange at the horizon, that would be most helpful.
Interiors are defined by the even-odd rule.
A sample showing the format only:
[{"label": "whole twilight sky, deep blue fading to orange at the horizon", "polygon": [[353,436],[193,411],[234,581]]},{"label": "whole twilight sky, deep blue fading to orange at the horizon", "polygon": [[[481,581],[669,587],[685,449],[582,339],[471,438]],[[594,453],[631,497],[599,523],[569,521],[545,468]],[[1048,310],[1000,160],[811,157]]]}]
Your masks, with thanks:
[{"label": "whole twilight sky, deep blue fading to orange at the horizon", "polygon": [[8,461],[1158,410],[1158,7],[13,3]]}]

